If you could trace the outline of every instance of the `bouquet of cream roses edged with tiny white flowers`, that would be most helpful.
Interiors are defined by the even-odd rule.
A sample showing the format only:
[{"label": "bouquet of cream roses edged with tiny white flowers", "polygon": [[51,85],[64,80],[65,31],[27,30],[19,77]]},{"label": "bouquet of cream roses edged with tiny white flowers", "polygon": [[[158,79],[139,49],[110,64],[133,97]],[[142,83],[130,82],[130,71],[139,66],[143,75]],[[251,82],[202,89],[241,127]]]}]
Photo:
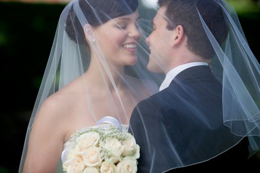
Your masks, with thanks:
[{"label": "bouquet of cream roses edged with tiny white flowers", "polygon": [[140,147],[128,132],[113,125],[80,130],[70,139],[66,173],[136,173]]}]

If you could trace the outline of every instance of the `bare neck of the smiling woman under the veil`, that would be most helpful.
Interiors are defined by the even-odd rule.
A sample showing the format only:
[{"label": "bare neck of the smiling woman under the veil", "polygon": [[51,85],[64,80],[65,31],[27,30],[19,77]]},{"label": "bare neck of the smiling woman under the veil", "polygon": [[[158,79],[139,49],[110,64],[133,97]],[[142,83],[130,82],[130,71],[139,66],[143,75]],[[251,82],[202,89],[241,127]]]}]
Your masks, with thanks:
[{"label": "bare neck of the smiling woman under the veil", "polygon": [[96,57],[91,57],[90,66],[85,73],[88,83],[96,88],[108,88],[114,90],[125,87],[124,66],[115,66],[106,62],[102,64]]}]

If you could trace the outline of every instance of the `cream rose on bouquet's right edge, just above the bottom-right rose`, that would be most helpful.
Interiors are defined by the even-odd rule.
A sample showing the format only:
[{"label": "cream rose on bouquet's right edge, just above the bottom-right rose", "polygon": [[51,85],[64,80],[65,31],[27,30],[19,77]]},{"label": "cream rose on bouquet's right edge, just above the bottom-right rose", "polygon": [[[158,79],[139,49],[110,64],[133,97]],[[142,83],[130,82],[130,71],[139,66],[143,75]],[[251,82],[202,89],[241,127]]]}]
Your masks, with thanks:
[{"label": "cream rose on bouquet's right edge, just above the bottom-right rose", "polygon": [[132,156],[135,153],[137,145],[132,134],[127,133],[127,138],[122,141],[122,144],[124,146],[124,151],[122,153],[123,156]]}]

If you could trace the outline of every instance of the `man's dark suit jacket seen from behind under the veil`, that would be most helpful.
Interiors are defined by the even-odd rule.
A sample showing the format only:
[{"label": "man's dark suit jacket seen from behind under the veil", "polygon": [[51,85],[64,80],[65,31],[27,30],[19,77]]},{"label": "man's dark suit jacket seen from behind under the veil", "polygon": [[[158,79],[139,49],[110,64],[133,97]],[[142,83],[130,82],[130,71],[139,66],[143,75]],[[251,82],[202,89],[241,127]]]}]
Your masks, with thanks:
[{"label": "man's dark suit jacket seen from behind under the veil", "polygon": [[[248,157],[247,138],[235,145],[242,138],[223,125],[222,86],[208,66],[182,71],[169,87],[141,101],[129,132],[141,148],[138,173],[234,169]],[[170,170],[194,161],[203,163]]]}]

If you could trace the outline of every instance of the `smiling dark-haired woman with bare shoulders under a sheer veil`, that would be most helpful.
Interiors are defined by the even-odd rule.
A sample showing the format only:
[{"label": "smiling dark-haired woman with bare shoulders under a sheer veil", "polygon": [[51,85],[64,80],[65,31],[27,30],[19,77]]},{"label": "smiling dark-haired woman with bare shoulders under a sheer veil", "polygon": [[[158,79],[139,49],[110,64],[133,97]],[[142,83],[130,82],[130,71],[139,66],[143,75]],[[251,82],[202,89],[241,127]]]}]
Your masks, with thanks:
[{"label": "smiling dark-haired woman with bare shoulders under a sheer veil", "polygon": [[137,48],[144,49],[137,6],[138,0],[74,0],[64,8],[19,173],[55,172],[73,133],[105,116],[128,125],[135,105],[158,90],[138,61]]}]

